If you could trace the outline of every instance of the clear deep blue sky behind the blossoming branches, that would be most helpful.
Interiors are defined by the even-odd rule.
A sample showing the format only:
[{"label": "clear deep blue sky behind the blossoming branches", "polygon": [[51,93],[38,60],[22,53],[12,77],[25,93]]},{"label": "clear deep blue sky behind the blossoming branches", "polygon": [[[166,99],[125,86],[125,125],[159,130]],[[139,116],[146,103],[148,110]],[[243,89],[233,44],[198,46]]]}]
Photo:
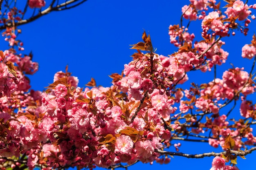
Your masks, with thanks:
[{"label": "clear deep blue sky behind the blossoming branches", "polygon": [[[49,4],[49,1],[46,2]],[[177,49],[170,44],[168,27],[170,24],[180,23],[181,7],[188,3],[189,0],[88,0],[79,7],[53,12],[20,26],[22,33],[18,39],[24,42],[25,53],[32,51],[33,60],[39,62],[38,73],[29,77],[32,88],[44,90],[44,87],[53,82],[54,73],[64,72],[66,65],[72,75],[79,78],[80,87],[84,87],[91,77],[96,79],[97,85],[110,86],[111,79],[108,75],[121,73],[124,64],[130,62],[130,55],[136,51],[129,49],[129,45],[141,41],[144,30],[150,33],[158,54],[172,54]],[[246,71],[250,70],[252,61],[242,59],[241,48],[252,40],[255,23],[253,21],[251,24],[247,37],[236,31],[236,36],[223,39],[226,42],[223,49],[229,52],[229,57],[223,67],[217,67],[217,77],[221,78],[223,71],[231,68],[230,63],[235,67],[244,66]],[[200,24],[192,22],[190,28],[191,33],[195,31],[195,39],[200,41]],[[213,73],[202,74],[199,71],[189,74],[189,81],[198,84],[212,79]],[[224,113],[225,110],[222,110],[222,114]],[[237,109],[232,113],[240,115]],[[175,151],[174,147],[172,151]],[[180,148],[180,152],[189,154],[212,151],[220,152],[221,148],[191,142],[182,142]],[[247,155],[246,160],[238,158],[238,168],[255,168],[254,157],[255,153]],[[137,163],[129,169],[209,170],[212,159],[213,157],[175,157],[167,165]]]}]

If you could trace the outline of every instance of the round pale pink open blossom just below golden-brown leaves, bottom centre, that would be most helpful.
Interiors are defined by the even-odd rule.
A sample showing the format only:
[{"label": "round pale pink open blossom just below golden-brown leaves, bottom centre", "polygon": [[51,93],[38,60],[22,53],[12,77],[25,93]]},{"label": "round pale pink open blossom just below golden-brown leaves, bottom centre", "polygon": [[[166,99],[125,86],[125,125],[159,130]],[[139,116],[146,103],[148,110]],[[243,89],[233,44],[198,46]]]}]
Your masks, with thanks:
[{"label": "round pale pink open blossom just below golden-brown leaves, bottom centre", "polygon": [[116,139],[115,150],[121,154],[130,153],[133,148],[132,139],[126,135],[120,135]]}]

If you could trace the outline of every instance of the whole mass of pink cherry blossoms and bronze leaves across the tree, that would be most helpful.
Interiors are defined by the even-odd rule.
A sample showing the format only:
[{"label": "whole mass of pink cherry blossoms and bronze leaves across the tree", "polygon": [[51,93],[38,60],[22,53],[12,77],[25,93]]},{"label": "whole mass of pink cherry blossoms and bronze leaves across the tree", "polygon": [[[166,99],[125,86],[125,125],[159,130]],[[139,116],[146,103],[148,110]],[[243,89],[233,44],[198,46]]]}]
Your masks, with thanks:
[{"label": "whole mass of pink cherry blossoms and bronze leaves across the tree", "polygon": [[[225,165],[236,164],[230,151],[256,144],[251,127],[256,108],[248,99],[256,88],[252,71],[233,67],[211,82],[183,88],[187,72],[216,71],[226,62],[229,53],[222,49],[221,38],[235,29],[245,35],[249,30],[249,9],[256,4],[227,2],[224,13],[215,0],[190,0],[182,7],[182,18],[202,20],[203,40],[195,40],[189,25],[171,25],[171,44],[177,51],[168,57],[155,53],[144,32],[143,42],[132,45],[137,50],[133,60],[124,65],[121,75],[110,75],[110,87],[97,87],[92,79],[87,84],[91,88],[83,89],[66,68],[54,75],[45,91],[32,90],[26,75],[36,73],[38,63],[31,60],[31,53],[17,53],[24,50],[17,39],[21,31],[7,27],[2,35],[10,49],[0,51],[0,168],[19,168],[21,162],[30,170],[169,163],[171,153],[160,151],[179,152],[182,140],[192,138],[226,151],[213,159],[211,170],[237,170]],[[41,8],[45,1],[29,0],[28,5]],[[22,13],[11,9],[2,22],[18,20],[18,15]],[[253,66],[255,44],[254,36],[241,55],[241,59],[254,59]],[[233,108],[222,113],[232,103],[240,105],[239,119],[229,116]]]}]

